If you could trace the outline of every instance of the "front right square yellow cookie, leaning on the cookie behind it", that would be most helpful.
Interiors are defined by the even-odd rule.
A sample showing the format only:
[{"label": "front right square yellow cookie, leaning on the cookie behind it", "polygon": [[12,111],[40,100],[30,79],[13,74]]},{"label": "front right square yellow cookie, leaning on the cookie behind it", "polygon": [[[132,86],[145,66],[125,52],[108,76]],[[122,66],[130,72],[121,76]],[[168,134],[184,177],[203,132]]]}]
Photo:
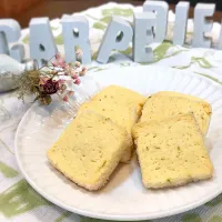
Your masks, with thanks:
[{"label": "front right square yellow cookie, leaning on the cookie behind it", "polygon": [[193,114],[137,123],[133,137],[145,188],[178,186],[213,174]]}]

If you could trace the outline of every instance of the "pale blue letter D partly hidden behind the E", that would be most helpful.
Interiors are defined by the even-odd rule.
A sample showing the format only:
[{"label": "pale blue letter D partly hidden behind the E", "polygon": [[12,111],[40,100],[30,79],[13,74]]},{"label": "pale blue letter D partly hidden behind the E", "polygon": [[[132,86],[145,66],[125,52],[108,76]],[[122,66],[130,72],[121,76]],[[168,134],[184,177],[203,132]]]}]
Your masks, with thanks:
[{"label": "pale blue letter D partly hidden behind the E", "polygon": [[169,6],[165,1],[145,1],[143,11],[155,11],[157,27],[154,29],[154,42],[162,42],[165,39],[168,29],[168,10]]}]

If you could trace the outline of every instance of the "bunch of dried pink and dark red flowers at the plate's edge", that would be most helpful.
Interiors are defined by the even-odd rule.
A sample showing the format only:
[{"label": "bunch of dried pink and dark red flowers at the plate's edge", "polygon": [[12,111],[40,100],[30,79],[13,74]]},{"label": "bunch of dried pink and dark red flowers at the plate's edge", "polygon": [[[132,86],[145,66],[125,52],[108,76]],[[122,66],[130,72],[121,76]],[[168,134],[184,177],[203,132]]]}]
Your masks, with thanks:
[{"label": "bunch of dried pink and dark red flowers at the plate's edge", "polygon": [[[78,50],[77,54],[82,56],[82,51]],[[48,67],[48,62],[51,64]],[[53,65],[53,67],[52,67]],[[48,68],[47,70],[42,70]],[[28,92],[36,94],[36,100],[43,104],[52,101],[51,94],[59,93],[63,101],[68,101],[73,95],[73,84],[80,84],[80,75],[84,75],[87,68],[81,62],[65,63],[61,54],[53,57],[46,64],[36,71],[30,71],[22,78],[19,78],[18,87],[20,88],[19,98],[22,100]],[[31,82],[31,83],[30,83]]]}]

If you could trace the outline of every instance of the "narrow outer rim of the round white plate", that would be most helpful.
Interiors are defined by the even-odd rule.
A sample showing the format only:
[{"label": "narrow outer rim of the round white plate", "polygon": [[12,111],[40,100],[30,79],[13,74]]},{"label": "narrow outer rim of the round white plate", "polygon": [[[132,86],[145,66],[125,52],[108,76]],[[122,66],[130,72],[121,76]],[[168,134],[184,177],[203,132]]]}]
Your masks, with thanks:
[{"label": "narrow outer rim of the round white plate", "polygon": [[[150,65],[151,67],[151,65]],[[128,68],[121,68],[121,70],[123,69],[134,69],[138,67],[128,67]],[[148,67],[140,67],[140,68],[148,68]],[[159,65],[152,65],[152,68],[158,68],[158,69],[168,69],[170,70],[174,70],[172,68],[164,68],[164,67],[159,67]],[[113,70],[119,70],[120,68],[113,68],[111,69]],[[149,68],[148,68],[149,69]],[[103,70],[101,72],[105,72],[109,70]],[[188,71],[188,70],[176,70],[179,72],[184,73],[186,75],[192,75],[192,77],[196,77],[192,71]],[[100,73],[101,74],[101,73]],[[202,77],[202,75],[198,75],[196,78],[200,79],[204,79],[204,81],[210,82],[211,84],[214,84],[215,87],[218,87],[221,91],[222,91],[222,87],[220,83]],[[210,193],[209,195],[205,195],[204,199],[200,199],[196,202],[192,202],[186,204],[185,206],[180,206],[180,208],[174,208],[173,210],[163,210],[160,212],[153,212],[153,213],[140,213],[140,214],[134,214],[134,215],[128,215],[128,214],[112,214],[112,213],[97,213],[97,212],[90,212],[89,210],[82,210],[75,206],[71,206],[69,204],[62,203],[61,201],[58,201],[57,199],[54,199],[52,195],[48,194],[47,192],[44,192],[41,188],[39,188],[34,181],[32,181],[29,175],[26,173],[26,170],[22,167],[22,163],[19,159],[19,148],[18,148],[18,140],[19,140],[19,134],[20,131],[22,129],[23,122],[27,120],[27,117],[29,115],[29,113],[32,111],[33,107],[38,105],[37,103],[33,103],[28,110],[27,112],[23,114],[21,121],[18,124],[17,131],[16,131],[16,135],[14,135],[14,154],[16,154],[16,160],[18,163],[18,167],[20,169],[20,172],[22,173],[22,175],[24,176],[24,179],[28,181],[28,183],[40,194],[42,195],[44,199],[47,199],[48,201],[50,201],[51,203],[65,209],[72,213],[79,214],[79,215],[83,215],[83,216],[89,216],[89,218],[93,218],[93,219],[101,219],[101,220],[117,220],[117,221],[143,221],[143,220],[154,220],[154,219],[160,219],[160,218],[165,218],[165,216],[171,216],[171,215],[175,215],[179,213],[183,213],[186,211],[190,211],[192,209],[195,209],[200,205],[203,205],[204,203],[211,201],[212,199],[216,198],[219,194],[222,193],[222,186],[221,189],[216,189],[214,190],[214,192]]]}]

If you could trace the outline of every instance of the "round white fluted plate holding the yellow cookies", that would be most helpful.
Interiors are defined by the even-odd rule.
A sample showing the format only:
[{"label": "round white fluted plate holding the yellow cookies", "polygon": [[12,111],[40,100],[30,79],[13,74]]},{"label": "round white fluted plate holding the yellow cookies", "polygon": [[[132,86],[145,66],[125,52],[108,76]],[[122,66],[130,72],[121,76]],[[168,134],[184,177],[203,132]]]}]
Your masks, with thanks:
[{"label": "round white fluted plate holding the yellow cookies", "polygon": [[[213,179],[175,189],[147,190],[142,185],[138,163],[133,160],[131,164],[120,165],[104,189],[88,192],[53,169],[46,157],[47,150],[71,120],[69,109],[62,102],[49,107],[36,103],[19,124],[16,155],[24,178],[40,194],[78,214],[133,221],[181,213],[222,192],[222,88],[219,84],[198,74],[159,67],[105,70],[93,73],[93,78],[102,87],[114,83],[143,94],[170,90],[209,101],[213,115],[206,144],[214,165]],[[83,99],[84,93],[90,94],[95,90],[95,84],[89,83],[85,92],[81,88],[79,90]]]}]

